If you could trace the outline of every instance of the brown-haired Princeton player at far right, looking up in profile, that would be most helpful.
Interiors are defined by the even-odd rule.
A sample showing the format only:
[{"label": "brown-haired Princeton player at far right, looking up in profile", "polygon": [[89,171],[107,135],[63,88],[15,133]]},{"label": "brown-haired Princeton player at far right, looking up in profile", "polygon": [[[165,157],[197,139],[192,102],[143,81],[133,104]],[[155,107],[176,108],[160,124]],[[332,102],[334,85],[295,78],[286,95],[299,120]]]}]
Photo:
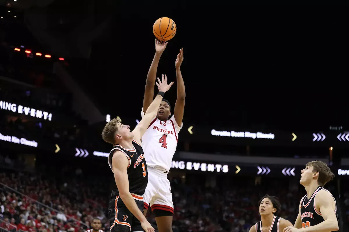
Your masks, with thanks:
[{"label": "brown-haired Princeton player at far right, looking up in profile", "polygon": [[304,186],[307,195],[299,202],[295,227],[287,227],[284,232],[341,231],[336,200],[324,189],[334,177],[331,169],[324,162],[312,161],[300,173],[299,183]]}]

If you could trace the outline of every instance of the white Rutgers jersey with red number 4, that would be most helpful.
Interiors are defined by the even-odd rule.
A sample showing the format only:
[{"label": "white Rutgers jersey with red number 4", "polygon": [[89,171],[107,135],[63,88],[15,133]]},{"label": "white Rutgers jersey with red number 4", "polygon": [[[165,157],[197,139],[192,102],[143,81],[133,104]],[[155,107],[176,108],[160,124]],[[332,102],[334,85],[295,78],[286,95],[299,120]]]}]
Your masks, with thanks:
[{"label": "white Rutgers jersey with red number 4", "polygon": [[[142,118],[144,112],[142,108]],[[160,121],[156,117],[151,121],[146,133],[142,136],[142,147],[147,166],[160,171],[169,171],[174,152],[178,144],[179,127],[174,116],[169,120]]]}]

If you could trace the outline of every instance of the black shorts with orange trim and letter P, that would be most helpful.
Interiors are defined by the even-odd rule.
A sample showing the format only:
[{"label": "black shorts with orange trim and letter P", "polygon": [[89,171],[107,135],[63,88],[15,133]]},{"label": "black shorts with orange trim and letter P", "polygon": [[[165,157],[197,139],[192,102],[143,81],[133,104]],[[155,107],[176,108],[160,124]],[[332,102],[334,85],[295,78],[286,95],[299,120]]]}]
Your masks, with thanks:
[{"label": "black shorts with orange trim and letter P", "polygon": [[[143,200],[136,200],[138,208],[143,213]],[[121,198],[110,200],[108,217],[110,220],[110,232],[136,232],[144,231],[141,222],[127,209]]]}]

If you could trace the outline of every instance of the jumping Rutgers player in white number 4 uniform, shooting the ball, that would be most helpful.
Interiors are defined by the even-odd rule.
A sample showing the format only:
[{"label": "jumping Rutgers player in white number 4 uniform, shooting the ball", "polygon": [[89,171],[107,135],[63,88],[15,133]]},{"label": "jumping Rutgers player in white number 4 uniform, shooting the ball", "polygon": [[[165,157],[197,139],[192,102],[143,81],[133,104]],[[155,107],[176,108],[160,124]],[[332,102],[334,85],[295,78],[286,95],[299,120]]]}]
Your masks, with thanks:
[{"label": "jumping Rutgers player in white number 4 uniform, shooting the ball", "polygon": [[[142,118],[144,112],[154,98],[156,70],[159,59],[167,46],[167,42],[155,40],[155,56],[151,63],[146,88],[144,91]],[[156,117],[151,121],[146,133],[142,137],[144,157],[148,166],[148,185],[143,195],[144,215],[148,207],[155,215],[159,232],[172,232],[173,202],[170,182],[167,174],[170,170],[172,157],[178,144],[178,133],[183,127],[182,119],[185,104],[185,87],[180,71],[183,62],[183,48],[179,50],[176,59],[177,100],[171,116],[170,103],[162,99]],[[171,116],[171,117],[170,117]]]}]

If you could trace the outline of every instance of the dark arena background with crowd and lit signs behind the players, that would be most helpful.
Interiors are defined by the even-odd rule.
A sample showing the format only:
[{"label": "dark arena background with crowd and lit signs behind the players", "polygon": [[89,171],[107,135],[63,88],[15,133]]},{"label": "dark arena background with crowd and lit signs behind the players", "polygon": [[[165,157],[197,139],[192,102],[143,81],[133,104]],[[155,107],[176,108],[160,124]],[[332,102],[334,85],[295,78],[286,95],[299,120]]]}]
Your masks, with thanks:
[{"label": "dark arena background with crowd and lit signs behind the players", "polygon": [[[115,182],[101,131],[112,118],[131,128],[141,119],[159,17],[178,30],[158,76],[175,81],[185,54],[183,129],[168,175],[173,231],[246,232],[265,194],[294,223],[306,194],[300,170],[313,160],[335,174],[325,187],[349,231],[342,6],[0,2],[2,232],[83,232],[94,217],[109,231]],[[175,87],[166,99],[174,105]]]}]

